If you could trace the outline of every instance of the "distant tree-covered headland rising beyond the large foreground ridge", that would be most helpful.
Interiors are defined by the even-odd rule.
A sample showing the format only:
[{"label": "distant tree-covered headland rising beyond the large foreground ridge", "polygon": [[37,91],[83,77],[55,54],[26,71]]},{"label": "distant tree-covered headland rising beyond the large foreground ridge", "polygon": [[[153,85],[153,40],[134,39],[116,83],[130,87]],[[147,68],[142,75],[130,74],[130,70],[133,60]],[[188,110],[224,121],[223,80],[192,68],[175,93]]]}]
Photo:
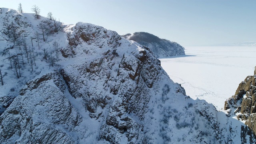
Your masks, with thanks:
[{"label": "distant tree-covered headland rising beyond the large foreground ridge", "polygon": [[126,34],[122,37],[134,40],[143,46],[147,46],[158,58],[185,55],[184,47],[180,46],[180,44],[158,38],[147,32],[135,32],[134,34]]}]

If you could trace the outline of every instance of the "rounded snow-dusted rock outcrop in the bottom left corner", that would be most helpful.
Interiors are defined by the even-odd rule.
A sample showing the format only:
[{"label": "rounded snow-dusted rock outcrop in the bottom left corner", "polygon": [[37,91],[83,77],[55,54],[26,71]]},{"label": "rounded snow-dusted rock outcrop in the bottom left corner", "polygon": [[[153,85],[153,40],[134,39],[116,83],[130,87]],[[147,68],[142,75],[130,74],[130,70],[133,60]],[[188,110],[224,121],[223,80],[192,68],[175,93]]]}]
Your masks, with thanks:
[{"label": "rounded snow-dusted rock outcrop in the bottom left corner", "polygon": [[76,143],[82,118],[64,92],[58,72],[29,81],[0,117],[0,143]]}]

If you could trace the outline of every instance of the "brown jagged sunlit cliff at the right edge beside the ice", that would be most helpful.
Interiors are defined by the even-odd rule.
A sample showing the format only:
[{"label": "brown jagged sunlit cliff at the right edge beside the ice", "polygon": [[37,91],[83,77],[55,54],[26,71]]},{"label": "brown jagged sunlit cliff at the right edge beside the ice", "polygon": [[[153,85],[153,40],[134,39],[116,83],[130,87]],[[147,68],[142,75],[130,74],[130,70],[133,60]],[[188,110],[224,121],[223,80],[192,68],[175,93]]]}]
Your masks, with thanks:
[{"label": "brown jagged sunlit cliff at the right edge beside the ice", "polygon": [[[242,81],[234,96],[226,100],[224,110],[227,112],[227,116],[236,115],[238,120],[244,121],[248,126],[243,127],[242,132],[247,132],[250,136],[256,134],[256,67],[254,70],[254,76],[247,76]],[[255,140],[250,140],[250,143]]]}]

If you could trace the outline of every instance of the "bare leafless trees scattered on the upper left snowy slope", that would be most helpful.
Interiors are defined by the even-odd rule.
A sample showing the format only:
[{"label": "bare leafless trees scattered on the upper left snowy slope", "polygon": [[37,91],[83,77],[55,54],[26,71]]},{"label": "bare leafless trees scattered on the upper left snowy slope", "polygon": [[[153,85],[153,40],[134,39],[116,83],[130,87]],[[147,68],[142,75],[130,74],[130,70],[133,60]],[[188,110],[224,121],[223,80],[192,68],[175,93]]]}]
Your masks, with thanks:
[{"label": "bare leafless trees scattered on the upper left snowy slope", "polygon": [[[18,11],[23,12],[22,4],[19,4]],[[34,12],[35,18],[40,19],[40,8],[36,5],[32,6],[32,11]],[[34,71],[36,67],[36,60],[38,57],[42,56],[42,59],[45,60],[50,66],[54,66],[56,61],[59,58],[60,44],[55,40],[52,42],[52,46],[46,50],[45,48],[42,52],[35,51],[35,45],[40,48],[40,41],[47,41],[48,36],[51,34],[62,31],[63,24],[60,21],[57,21],[56,18],[52,15],[52,12],[49,12],[47,18],[40,21],[38,24],[38,30],[34,34],[28,34],[25,30],[21,30],[22,26],[18,26],[15,22],[8,23],[3,28],[3,34],[6,34],[10,46],[4,48],[0,54],[5,56],[5,62],[8,64],[7,69],[12,73],[12,77],[20,78],[24,70],[28,69],[29,71]],[[30,35],[30,38],[28,36]],[[31,41],[31,44],[30,42]],[[35,42],[33,44],[33,42]],[[11,49],[12,52],[10,52]],[[2,69],[4,65],[0,65],[0,82],[4,85],[4,77],[7,75],[7,72],[4,72]]]}]

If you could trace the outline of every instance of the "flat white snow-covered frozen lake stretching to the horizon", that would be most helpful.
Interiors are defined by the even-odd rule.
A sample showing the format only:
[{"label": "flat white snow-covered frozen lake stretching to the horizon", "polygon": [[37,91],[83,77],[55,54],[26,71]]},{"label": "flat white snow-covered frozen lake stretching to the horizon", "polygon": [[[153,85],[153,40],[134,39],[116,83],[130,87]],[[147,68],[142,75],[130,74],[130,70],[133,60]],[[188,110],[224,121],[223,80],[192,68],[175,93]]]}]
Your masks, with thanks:
[{"label": "flat white snow-covered frozen lake stretching to the horizon", "polygon": [[256,47],[185,47],[186,56],[160,58],[161,66],[193,99],[204,99],[218,110],[235,94],[240,82],[254,74]]}]

